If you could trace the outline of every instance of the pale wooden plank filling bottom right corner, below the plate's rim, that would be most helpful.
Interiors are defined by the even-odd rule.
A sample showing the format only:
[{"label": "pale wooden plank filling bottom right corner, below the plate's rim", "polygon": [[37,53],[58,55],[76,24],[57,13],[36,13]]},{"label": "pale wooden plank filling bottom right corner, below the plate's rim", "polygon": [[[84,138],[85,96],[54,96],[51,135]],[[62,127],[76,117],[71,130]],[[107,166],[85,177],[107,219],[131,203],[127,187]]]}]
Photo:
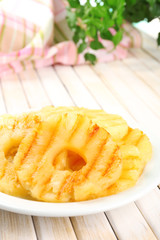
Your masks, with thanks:
[{"label": "pale wooden plank filling bottom right corner, below the plate's rim", "polygon": [[158,239],[160,239],[160,190],[156,188],[138,201],[136,205]]}]

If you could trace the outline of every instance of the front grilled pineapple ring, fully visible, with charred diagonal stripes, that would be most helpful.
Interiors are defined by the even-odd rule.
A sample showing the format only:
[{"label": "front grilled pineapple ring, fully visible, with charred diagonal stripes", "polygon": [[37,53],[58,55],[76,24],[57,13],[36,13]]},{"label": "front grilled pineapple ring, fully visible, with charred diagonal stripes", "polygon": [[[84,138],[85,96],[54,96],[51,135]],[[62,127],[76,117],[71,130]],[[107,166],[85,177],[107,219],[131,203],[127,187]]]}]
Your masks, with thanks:
[{"label": "front grilled pineapple ring, fully visible, with charred diagonal stripes", "polygon": [[105,196],[121,174],[122,161],[106,130],[85,116],[65,113],[23,139],[14,166],[33,198],[69,202]]}]

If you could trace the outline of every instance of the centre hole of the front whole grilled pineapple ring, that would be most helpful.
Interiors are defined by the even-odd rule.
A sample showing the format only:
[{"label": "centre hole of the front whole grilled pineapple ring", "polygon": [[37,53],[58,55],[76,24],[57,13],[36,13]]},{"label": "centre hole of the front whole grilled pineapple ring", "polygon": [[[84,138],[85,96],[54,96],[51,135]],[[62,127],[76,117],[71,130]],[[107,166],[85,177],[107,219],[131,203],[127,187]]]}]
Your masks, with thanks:
[{"label": "centre hole of the front whole grilled pineapple ring", "polygon": [[79,171],[86,165],[86,162],[78,153],[63,150],[57,155],[53,165],[57,170]]}]

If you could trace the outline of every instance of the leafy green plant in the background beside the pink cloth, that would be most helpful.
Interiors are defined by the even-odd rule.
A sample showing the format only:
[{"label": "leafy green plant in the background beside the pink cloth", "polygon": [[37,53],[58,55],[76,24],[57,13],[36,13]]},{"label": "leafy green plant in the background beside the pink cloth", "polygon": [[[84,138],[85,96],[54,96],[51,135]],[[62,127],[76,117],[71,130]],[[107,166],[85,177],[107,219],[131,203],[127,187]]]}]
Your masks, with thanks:
[{"label": "leafy green plant in the background beside the pink cloth", "polygon": [[[138,22],[151,21],[160,16],[160,0],[68,0],[67,22],[73,31],[73,40],[78,53],[90,47],[93,50],[104,48],[99,37],[111,40],[114,46],[122,40],[123,20]],[[116,30],[113,35],[110,28]],[[160,45],[160,34],[157,40]],[[86,61],[96,62],[96,56],[89,52],[84,55]]]}]

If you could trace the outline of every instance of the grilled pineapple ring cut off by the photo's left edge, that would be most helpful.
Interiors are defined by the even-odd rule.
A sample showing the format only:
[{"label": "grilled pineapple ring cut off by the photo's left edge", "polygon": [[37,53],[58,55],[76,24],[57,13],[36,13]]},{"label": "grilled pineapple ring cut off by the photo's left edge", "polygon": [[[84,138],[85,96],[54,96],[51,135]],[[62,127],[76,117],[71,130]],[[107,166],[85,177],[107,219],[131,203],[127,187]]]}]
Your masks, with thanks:
[{"label": "grilled pineapple ring cut off by the photo's left edge", "polygon": [[38,123],[38,117],[4,115],[0,118],[0,191],[9,195],[30,198],[18,181],[13,159],[22,139],[30,128]]}]

